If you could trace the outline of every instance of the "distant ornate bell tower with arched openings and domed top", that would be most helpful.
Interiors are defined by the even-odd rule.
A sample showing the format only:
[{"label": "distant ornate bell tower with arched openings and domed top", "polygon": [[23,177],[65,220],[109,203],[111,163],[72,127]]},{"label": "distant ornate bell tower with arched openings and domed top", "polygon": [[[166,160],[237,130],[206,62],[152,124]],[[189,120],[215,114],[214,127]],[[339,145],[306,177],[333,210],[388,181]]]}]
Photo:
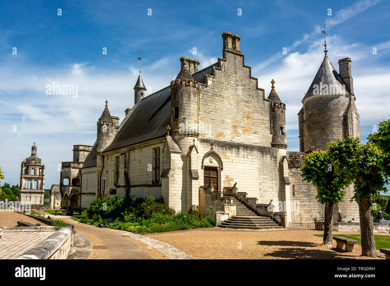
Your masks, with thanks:
[{"label": "distant ornate bell tower with arched openings and domed top", "polygon": [[43,205],[45,165],[37,157],[37,146],[31,146],[31,156],[23,160],[20,169],[19,201],[22,204]]}]

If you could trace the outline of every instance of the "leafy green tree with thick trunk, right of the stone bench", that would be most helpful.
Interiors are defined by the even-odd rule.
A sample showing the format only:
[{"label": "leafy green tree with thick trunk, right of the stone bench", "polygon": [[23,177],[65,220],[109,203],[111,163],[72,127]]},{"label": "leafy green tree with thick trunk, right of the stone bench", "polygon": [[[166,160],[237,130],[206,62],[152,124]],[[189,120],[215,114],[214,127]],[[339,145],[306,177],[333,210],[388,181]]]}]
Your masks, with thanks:
[{"label": "leafy green tree with thick trunk, right of the stone bench", "polygon": [[384,172],[379,167],[383,152],[367,142],[361,144],[358,138],[347,136],[328,143],[329,158],[337,175],[343,175],[346,183],[354,184],[351,198],[359,205],[360,234],[362,237],[362,256],[384,257],[375,249],[372,199],[380,191],[387,191]]}]

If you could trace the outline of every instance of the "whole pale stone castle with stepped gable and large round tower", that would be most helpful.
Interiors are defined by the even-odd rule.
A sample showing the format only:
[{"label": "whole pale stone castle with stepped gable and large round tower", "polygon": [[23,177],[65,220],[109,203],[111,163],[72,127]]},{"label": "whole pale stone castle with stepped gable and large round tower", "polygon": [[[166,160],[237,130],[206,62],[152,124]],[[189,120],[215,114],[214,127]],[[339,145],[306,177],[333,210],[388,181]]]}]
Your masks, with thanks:
[{"label": "whole pale stone castle with stepped gable and large round tower", "polygon": [[[284,223],[323,216],[316,188],[302,182],[299,168],[307,152],[325,149],[328,141],[346,133],[360,137],[351,60],[339,61],[339,74],[325,55],[298,114],[300,152],[286,152],[286,105],[274,81],[266,97],[244,63],[240,37],[224,32],[222,38],[217,63],[199,70],[199,61],[182,57],[176,79],[151,95],[140,74],[135,104],[121,123],[106,101],[93,146],[66,162],[70,167],[63,163],[57,191],[62,207],[77,200],[76,206],[87,208],[96,197],[154,196],[176,210],[200,205],[215,213],[236,197]],[[312,88],[317,83],[319,92]],[[326,84],[336,86],[329,93],[322,89]],[[350,192],[335,206],[336,221],[358,218]]]}]

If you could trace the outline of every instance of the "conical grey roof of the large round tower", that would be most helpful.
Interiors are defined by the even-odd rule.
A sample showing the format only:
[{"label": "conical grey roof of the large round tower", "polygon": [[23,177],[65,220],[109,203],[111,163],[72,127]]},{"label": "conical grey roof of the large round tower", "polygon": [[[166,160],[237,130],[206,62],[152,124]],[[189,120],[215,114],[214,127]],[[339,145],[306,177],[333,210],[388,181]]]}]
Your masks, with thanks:
[{"label": "conical grey roof of the large round tower", "polygon": [[[319,67],[316,76],[313,79],[312,84],[310,84],[309,89],[307,90],[307,93],[303,99],[308,98],[313,94],[314,91],[314,84],[318,84],[320,86],[320,82],[324,86],[324,84],[328,84],[329,87],[334,88],[337,92],[332,93],[331,88],[329,88],[328,94],[334,94],[334,95],[350,95],[349,91],[347,91],[344,86],[344,82],[339,77],[339,73],[336,71],[335,67],[333,67],[332,63],[330,62],[328,55],[325,54],[324,60],[321,63],[321,66]],[[322,91],[320,91],[320,94],[323,94]]]}]

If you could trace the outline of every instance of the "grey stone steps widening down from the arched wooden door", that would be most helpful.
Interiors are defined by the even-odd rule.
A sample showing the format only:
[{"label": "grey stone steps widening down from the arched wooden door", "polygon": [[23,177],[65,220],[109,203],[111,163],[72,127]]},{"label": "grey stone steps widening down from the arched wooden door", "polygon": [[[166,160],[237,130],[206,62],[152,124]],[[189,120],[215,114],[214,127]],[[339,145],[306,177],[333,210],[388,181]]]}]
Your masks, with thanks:
[{"label": "grey stone steps widening down from the arched wooden door", "polygon": [[223,228],[245,228],[251,230],[273,230],[284,228],[268,216],[259,216],[245,204],[234,198],[233,204],[236,205],[236,215],[223,221],[219,227]]}]

